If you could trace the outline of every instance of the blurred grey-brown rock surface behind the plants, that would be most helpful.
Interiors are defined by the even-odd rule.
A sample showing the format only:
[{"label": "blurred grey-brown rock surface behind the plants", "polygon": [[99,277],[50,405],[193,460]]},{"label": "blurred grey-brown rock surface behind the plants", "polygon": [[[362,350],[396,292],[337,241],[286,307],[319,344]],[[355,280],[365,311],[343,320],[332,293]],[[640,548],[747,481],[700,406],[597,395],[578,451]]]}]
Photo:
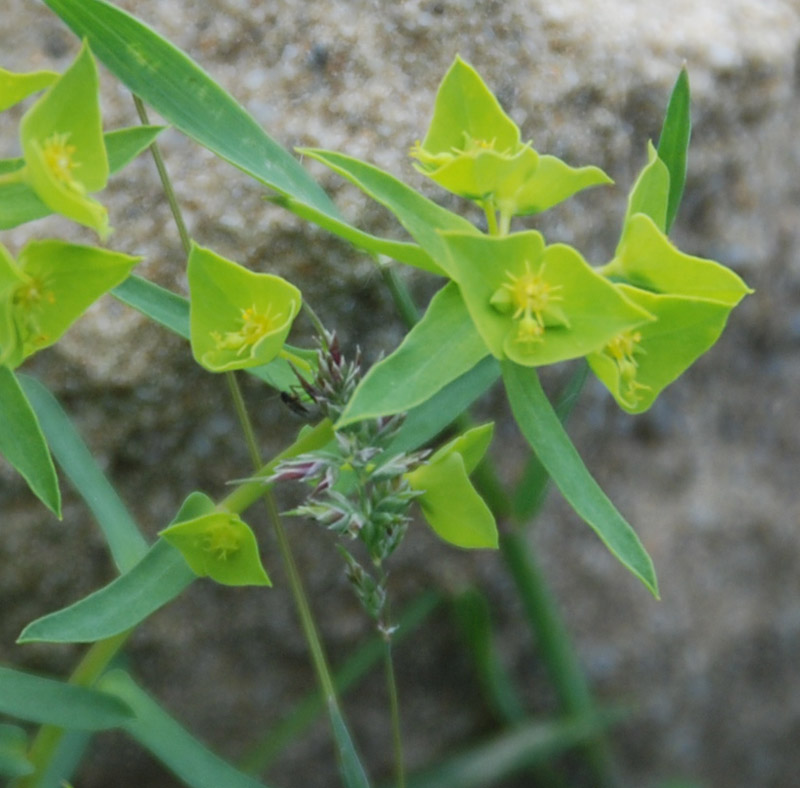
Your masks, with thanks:
[{"label": "blurred grey-brown rock surface behind the plants", "polygon": [[[686,197],[673,231],[685,251],[717,259],[756,289],[718,345],[652,411],[629,417],[590,385],[571,432],[603,487],[637,527],[663,598],[651,599],[551,495],[531,541],[545,564],[597,696],[629,704],[615,729],[623,784],[692,778],[707,786],[787,786],[800,771],[800,186],[796,143],[800,6],[792,0],[121,0],[199,62],[288,148],[341,150],[435,194],[406,156],[424,135],[439,80],[456,53],[470,61],[542,152],[597,164],[615,188],[586,192],[537,220],[550,241],[587,259],[613,251],[627,189],[658,134],[686,62],[694,131]],[[78,42],[32,0],[4,0],[0,65],[63,70]],[[108,128],[136,122],[130,97],[103,72]],[[20,111],[0,117],[0,155],[17,153]],[[264,190],[180,134],[160,138],[190,231],[256,270],[288,276],[345,348],[389,351],[402,326],[372,262],[264,202]],[[321,168],[311,171],[346,216],[402,237],[379,207]],[[455,199],[437,195],[448,206]],[[139,273],[185,292],[184,260],[150,160],[104,195],[113,248],[145,257]],[[94,243],[52,218],[3,233]],[[400,271],[422,302],[431,277]],[[305,335],[304,335],[305,332]],[[296,341],[308,328],[298,324]],[[247,472],[224,381],[191,363],[184,343],[108,298],[26,371],[61,398],[148,535],[193,489],[211,495]],[[248,382],[265,453],[296,424]],[[523,447],[500,397],[495,453],[509,479]],[[30,620],[108,581],[91,517],[66,491],[49,517],[0,466],[0,661],[65,673],[78,649],[15,646]],[[195,584],[137,633],[137,677],[168,709],[235,758],[312,685],[306,652],[266,523],[253,517],[275,589]],[[332,661],[369,630],[327,534],[291,536]],[[552,691],[495,555],[440,546],[412,529],[394,562],[400,603],[421,589],[477,583],[489,594],[503,658],[534,711]],[[420,766],[491,730],[451,617],[435,614],[397,650],[408,760]],[[346,702],[376,775],[388,775],[389,732],[376,674]],[[279,762],[281,786],[337,784],[317,726]],[[81,788],[175,785],[121,736],[98,739]],[[580,784],[580,778],[575,778]],[[588,784],[588,783],[587,783]],[[511,785],[530,785],[527,778]]]}]

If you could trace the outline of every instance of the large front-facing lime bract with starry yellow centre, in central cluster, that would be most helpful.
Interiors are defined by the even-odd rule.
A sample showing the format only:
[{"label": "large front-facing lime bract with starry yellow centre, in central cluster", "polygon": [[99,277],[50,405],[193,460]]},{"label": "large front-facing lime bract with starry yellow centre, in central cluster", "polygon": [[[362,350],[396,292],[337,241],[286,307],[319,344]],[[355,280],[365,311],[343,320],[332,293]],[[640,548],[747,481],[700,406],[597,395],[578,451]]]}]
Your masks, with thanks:
[{"label": "large front-facing lime bract with starry yellow centre, in central cluster", "polygon": [[651,320],[565,244],[540,233],[442,233],[461,295],[492,354],[524,366],[601,348]]}]

